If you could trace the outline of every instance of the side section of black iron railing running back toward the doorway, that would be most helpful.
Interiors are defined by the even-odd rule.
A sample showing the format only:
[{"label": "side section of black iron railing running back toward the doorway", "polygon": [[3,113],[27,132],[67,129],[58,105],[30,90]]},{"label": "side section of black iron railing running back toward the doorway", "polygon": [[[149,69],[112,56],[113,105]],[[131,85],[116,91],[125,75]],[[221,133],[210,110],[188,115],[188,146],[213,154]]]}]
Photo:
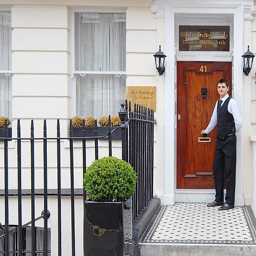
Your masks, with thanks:
[{"label": "side section of black iron railing running back toward the doorway", "polygon": [[[137,173],[133,196],[133,219],[137,218],[153,197],[154,111],[129,102],[127,162]],[[128,153],[129,152],[129,153]]]}]

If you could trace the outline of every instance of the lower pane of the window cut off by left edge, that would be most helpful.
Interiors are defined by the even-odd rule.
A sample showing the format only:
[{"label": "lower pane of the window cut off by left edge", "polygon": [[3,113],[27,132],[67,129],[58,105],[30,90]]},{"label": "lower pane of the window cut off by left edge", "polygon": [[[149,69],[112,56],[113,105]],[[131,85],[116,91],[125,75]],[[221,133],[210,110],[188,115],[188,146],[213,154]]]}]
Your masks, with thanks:
[{"label": "lower pane of the window cut off by left edge", "polygon": [[11,118],[11,77],[0,73],[0,115]]}]

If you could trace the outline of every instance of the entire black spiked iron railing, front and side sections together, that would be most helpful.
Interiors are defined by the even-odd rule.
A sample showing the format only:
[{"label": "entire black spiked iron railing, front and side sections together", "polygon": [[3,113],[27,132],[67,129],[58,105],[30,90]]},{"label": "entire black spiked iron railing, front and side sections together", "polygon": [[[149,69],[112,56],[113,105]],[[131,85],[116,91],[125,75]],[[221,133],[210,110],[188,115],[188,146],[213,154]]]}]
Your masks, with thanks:
[{"label": "entire black spiked iron railing, front and side sections together", "polygon": [[[137,187],[136,191],[133,196],[133,219],[137,218],[139,214],[143,211],[143,209],[146,207],[146,205],[150,202],[152,199],[152,180],[153,180],[153,155],[154,155],[154,112],[152,110],[148,110],[144,107],[134,105],[134,110],[131,110],[131,106],[129,105],[129,109],[127,111],[127,102],[126,105],[122,105],[121,111],[119,112],[120,117],[122,117],[122,125],[121,127],[108,127],[108,131],[105,135],[99,135],[98,134],[98,127],[97,127],[97,121],[96,121],[96,127],[94,128],[94,136],[86,136],[85,132],[85,123],[82,127],[82,137],[73,137],[73,131],[72,131],[72,121],[70,123],[70,129],[69,129],[69,137],[61,137],[60,136],[60,121],[57,119],[56,123],[56,137],[47,137],[47,121],[44,120],[43,125],[43,137],[35,138],[35,129],[34,129],[34,121],[31,121],[31,131],[30,131],[30,137],[27,138],[21,138],[20,136],[20,120],[18,120],[17,123],[17,137],[16,138],[7,138],[7,126],[5,127],[6,132],[6,138],[0,138],[0,141],[3,141],[3,148],[2,152],[3,154],[0,155],[0,168],[4,171],[4,179],[0,178],[0,200],[1,197],[4,201],[4,209],[1,209],[0,214],[0,222],[1,224],[1,232],[0,232],[0,254],[4,251],[5,256],[9,256],[9,253],[15,253],[14,255],[26,255],[26,253],[29,253],[27,255],[37,255],[36,253],[43,253],[44,256],[50,255],[51,250],[49,249],[49,227],[48,227],[48,214],[42,214],[43,222],[41,224],[42,232],[43,232],[43,242],[40,246],[38,246],[38,227],[36,226],[35,222],[38,220],[38,218],[35,217],[36,209],[39,208],[37,197],[43,196],[43,205],[40,205],[40,207],[43,207],[43,212],[49,212],[48,204],[49,204],[49,197],[55,196],[56,197],[56,204],[57,204],[57,220],[56,222],[56,229],[57,229],[57,247],[56,255],[60,256],[62,255],[63,251],[63,226],[67,224],[67,222],[70,223],[71,230],[68,234],[68,237],[70,237],[71,240],[71,247],[70,247],[70,255],[75,256],[76,255],[76,208],[75,208],[75,202],[77,196],[80,198],[82,197],[82,201],[86,200],[86,191],[80,187],[75,187],[75,182],[78,180],[83,179],[83,175],[86,171],[86,160],[89,158],[92,158],[92,152],[88,152],[88,140],[91,139],[93,142],[94,147],[94,153],[93,153],[93,159],[99,158],[99,146],[98,146],[98,140],[102,138],[108,138],[108,155],[112,156],[113,154],[113,147],[112,147],[112,132],[114,129],[121,129],[122,131],[122,158],[129,162],[131,166],[134,167],[134,170],[137,172]],[[109,118],[110,119],[110,118]],[[14,132],[13,132],[14,134]],[[10,156],[9,151],[9,141],[10,139],[15,142],[15,148],[16,148],[16,167],[13,167],[13,163],[11,163],[11,167],[9,167],[10,163],[9,160],[11,159],[11,156],[13,157],[13,151]],[[81,142],[77,142],[80,140]],[[65,151],[68,152],[68,158],[69,158],[69,185],[67,184],[64,186],[61,181],[63,181],[63,159],[61,155],[63,155],[63,143],[67,142],[68,147],[65,148]],[[27,145],[29,143],[30,152],[26,152],[24,154],[24,144]],[[38,171],[36,170],[36,160],[38,159],[38,151],[35,149],[35,143],[36,148],[38,148],[38,144],[42,145],[43,148],[43,155],[42,155],[42,186],[40,188],[36,188],[36,180],[38,180],[38,177],[36,178],[36,175],[38,175]],[[67,145],[66,143],[66,145]],[[81,143],[80,152],[77,153],[77,147],[76,150],[74,150],[74,143],[77,146],[77,143]],[[91,143],[92,144],[92,143]],[[52,152],[52,145],[56,148],[56,162],[55,162],[55,170],[56,170],[56,183],[55,188],[49,188],[48,184],[52,181],[49,181],[49,169],[53,168],[52,163],[51,166],[49,165],[49,154],[53,154]],[[91,145],[92,146],[92,145]],[[26,147],[27,148],[27,147]],[[11,148],[13,150],[13,148]],[[55,153],[54,153],[55,154]],[[30,187],[23,187],[23,167],[22,163],[24,161],[24,156],[26,158],[30,158]],[[67,155],[66,155],[67,156]],[[75,162],[74,158],[81,157],[80,163],[82,168],[82,174],[81,176],[77,176],[79,172],[75,172]],[[10,158],[10,159],[9,159]],[[11,159],[13,162],[14,159]],[[67,159],[65,159],[67,160]],[[3,164],[1,164],[1,162]],[[87,164],[88,165],[88,164]],[[65,166],[67,169],[67,166]],[[9,188],[9,175],[10,175],[10,169],[11,171],[16,171],[16,183],[17,187],[14,189]],[[3,184],[4,181],[4,184]],[[1,184],[2,183],[2,184]],[[30,196],[30,209],[26,209],[26,214],[31,217],[31,221],[27,222],[26,224],[22,224],[23,215],[24,215],[24,207],[27,207],[23,203],[23,197],[29,195]],[[15,226],[15,228],[11,228],[13,226],[11,223],[10,225],[10,211],[13,211],[13,209],[9,208],[10,199],[11,197],[16,196],[18,201],[18,210],[16,212],[18,220],[18,225]],[[63,202],[62,199],[65,196],[69,197],[70,202],[70,218],[63,217],[63,212],[65,211],[63,209]],[[51,212],[51,210],[50,210]],[[4,216],[4,217],[1,217]],[[1,219],[2,218],[2,219]],[[65,219],[63,219],[65,218]],[[26,218],[25,218],[26,219]],[[84,218],[85,219],[85,218]],[[12,221],[12,220],[11,220]],[[65,224],[64,224],[65,222]],[[31,236],[27,239],[30,239],[30,249],[27,250],[27,247],[24,246],[24,228],[30,229]],[[80,225],[80,224],[79,224]],[[82,222],[81,222],[82,225]],[[15,229],[15,230],[14,230]],[[11,234],[13,233],[13,234]],[[16,241],[15,243],[15,250],[10,249],[10,236],[14,236],[11,238],[11,240]],[[3,243],[1,243],[3,241]],[[1,246],[3,248],[1,248]],[[82,246],[82,245],[81,245]],[[39,248],[40,247],[40,248]],[[42,254],[40,254],[42,255]]]}]

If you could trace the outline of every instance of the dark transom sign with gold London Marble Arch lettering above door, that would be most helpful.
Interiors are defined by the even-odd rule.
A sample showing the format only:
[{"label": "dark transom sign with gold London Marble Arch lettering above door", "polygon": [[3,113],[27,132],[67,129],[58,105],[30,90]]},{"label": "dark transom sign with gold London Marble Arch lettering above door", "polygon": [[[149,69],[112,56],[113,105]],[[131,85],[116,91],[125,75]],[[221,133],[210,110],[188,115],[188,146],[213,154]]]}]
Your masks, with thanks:
[{"label": "dark transom sign with gold London Marble Arch lettering above door", "polygon": [[229,26],[179,26],[179,51],[229,51]]}]

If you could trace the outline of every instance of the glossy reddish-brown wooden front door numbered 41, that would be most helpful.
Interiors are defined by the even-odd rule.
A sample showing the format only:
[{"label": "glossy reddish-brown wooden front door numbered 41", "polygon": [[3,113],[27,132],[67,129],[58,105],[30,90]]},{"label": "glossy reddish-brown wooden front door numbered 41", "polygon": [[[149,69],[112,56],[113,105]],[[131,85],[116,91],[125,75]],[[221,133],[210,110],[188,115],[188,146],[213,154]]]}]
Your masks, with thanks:
[{"label": "glossy reddish-brown wooden front door numbered 41", "polygon": [[217,82],[229,82],[232,63],[177,62],[177,188],[214,188],[216,128],[201,138],[219,98]]}]

